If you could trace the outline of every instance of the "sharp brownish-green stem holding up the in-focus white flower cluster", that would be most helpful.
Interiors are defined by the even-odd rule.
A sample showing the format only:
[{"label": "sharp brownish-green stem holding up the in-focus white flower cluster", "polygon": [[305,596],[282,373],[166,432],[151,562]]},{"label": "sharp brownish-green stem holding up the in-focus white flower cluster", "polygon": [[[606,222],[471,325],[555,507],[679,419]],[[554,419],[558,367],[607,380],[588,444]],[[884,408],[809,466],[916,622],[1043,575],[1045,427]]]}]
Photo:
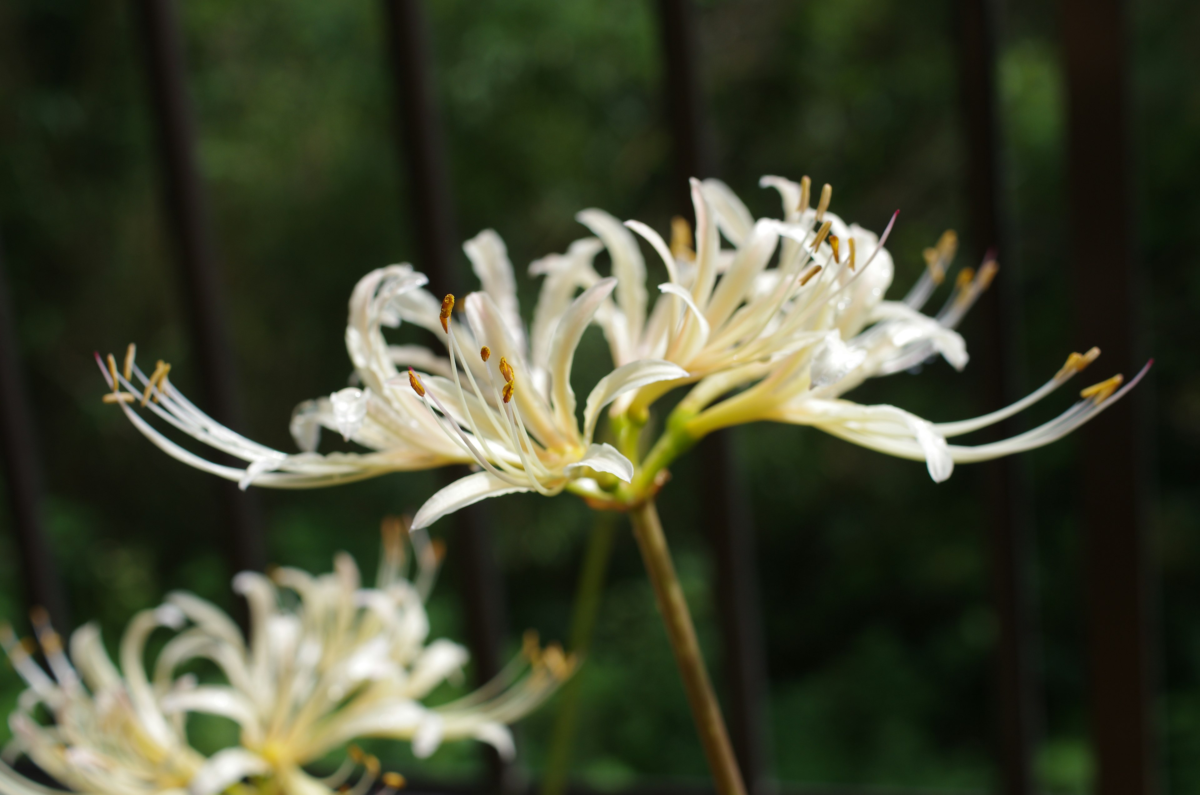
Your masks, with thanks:
[{"label": "sharp brownish-green stem holding up the in-focus white flower cluster", "polygon": [[742,772],[738,770],[730,733],[721,717],[721,706],[713,692],[713,682],[708,679],[704,658],[700,653],[696,640],[696,627],[691,622],[691,612],[679,585],[671,550],[666,536],[662,534],[662,522],[653,500],[647,500],[629,512],[634,524],[634,537],[646,562],[646,573],[654,586],[654,597],[666,624],[671,650],[674,652],[679,677],[683,680],[691,706],[691,717],[700,734],[700,742],[708,758],[708,767],[713,773],[718,795],[746,795]]}]

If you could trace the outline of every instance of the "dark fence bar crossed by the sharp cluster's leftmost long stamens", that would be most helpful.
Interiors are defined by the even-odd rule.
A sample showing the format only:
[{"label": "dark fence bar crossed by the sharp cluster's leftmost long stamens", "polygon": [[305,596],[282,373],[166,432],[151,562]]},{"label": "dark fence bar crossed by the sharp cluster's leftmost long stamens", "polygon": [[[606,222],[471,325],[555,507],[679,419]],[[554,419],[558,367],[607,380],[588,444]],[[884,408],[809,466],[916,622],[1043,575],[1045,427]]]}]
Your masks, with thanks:
[{"label": "dark fence bar crossed by the sharp cluster's leftmost long stamens", "polygon": [[[188,330],[199,361],[202,394],[212,417],[241,426],[236,379],[224,328],[224,305],[204,189],[196,163],[196,127],[185,78],[179,14],[174,0],[137,0],[167,215],[184,283]],[[266,563],[258,503],[233,483],[217,488],[230,532],[235,569]]]}]

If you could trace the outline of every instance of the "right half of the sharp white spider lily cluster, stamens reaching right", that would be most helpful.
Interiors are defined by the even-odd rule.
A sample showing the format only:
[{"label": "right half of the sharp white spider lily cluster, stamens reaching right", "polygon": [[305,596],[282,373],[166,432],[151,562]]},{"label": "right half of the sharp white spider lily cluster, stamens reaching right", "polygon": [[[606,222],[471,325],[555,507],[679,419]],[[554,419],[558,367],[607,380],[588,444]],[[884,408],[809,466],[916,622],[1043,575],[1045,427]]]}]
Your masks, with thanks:
[{"label": "right half of the sharp white spider lily cluster, stamens reaching right", "polygon": [[[618,286],[616,305],[598,315],[606,324],[613,358],[661,355],[689,375],[625,395],[612,412],[625,413],[630,423],[644,422],[644,410],[665,390],[698,382],[667,423],[674,430],[659,440],[641,465],[634,492],[702,436],[756,420],[815,425],[876,450],[924,460],[930,477],[941,482],[950,476],[954,462],[1008,455],[1061,438],[1123,396],[1145,373],[1120,389],[1120,378],[1086,389],[1057,419],[1012,440],[977,447],[949,444],[947,438],[986,428],[1031,406],[1099,352],[1072,354],[1068,364],[1030,398],[961,423],[935,424],[894,406],[842,400],[866,378],[910,370],[934,355],[962,370],[968,357],[955,327],[991,283],[997,264],[989,255],[978,271],[964,269],[942,309],[924,315],[920,310],[942,283],[958,247],[953,232],[925,250],[926,269],[904,300],[889,301],[884,294],[894,265],[883,243],[895,215],[883,234],[875,235],[828,211],[828,185],[815,209],[809,207],[808,178],[797,184],[764,177],[761,185],[781,195],[782,220],[756,221],[722,183],[692,180],[695,253],[685,222],[676,221],[670,247],[646,225],[624,225],[659,253],[670,281],[659,286],[664,295],[648,319],[644,292],[626,289],[622,298]],[[644,281],[637,245],[622,225],[599,210],[586,210],[578,217],[608,249],[618,280]],[[724,249],[721,238],[732,249]],[[770,265],[773,258],[775,264]],[[576,265],[578,283],[590,279],[589,268]],[[712,405],[738,389],[744,391]]]}]

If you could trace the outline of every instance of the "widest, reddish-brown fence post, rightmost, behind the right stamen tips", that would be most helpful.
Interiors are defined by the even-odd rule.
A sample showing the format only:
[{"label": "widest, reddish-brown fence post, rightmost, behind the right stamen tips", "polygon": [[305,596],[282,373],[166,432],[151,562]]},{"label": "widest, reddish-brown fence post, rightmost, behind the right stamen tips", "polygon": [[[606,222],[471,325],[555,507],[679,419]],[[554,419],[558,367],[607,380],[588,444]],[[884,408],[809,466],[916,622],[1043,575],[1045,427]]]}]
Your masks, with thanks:
[{"label": "widest, reddish-brown fence post, rightmost, behind the right stamen tips", "polygon": [[[1063,0],[1067,180],[1081,345],[1103,370],[1135,359],[1138,273],[1121,0]],[[1080,478],[1098,795],[1156,791],[1151,729],[1146,521],[1139,405],[1145,388],[1082,429]]]}]

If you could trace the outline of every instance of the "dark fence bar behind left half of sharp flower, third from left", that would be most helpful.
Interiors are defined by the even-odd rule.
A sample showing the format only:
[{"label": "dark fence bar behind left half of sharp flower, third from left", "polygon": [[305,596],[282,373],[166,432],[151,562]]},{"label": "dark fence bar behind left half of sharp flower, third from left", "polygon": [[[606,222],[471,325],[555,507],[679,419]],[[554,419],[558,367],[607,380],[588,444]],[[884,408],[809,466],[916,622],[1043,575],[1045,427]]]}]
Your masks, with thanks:
[{"label": "dark fence bar behind left half of sharp flower, third from left", "polygon": [[[425,8],[421,0],[384,0],[384,12],[397,148],[408,177],[419,269],[430,277],[430,287],[436,293],[457,293],[455,222],[442,125],[430,76],[432,56]],[[464,467],[452,467],[448,471],[446,482],[464,474]],[[462,580],[467,605],[468,644],[475,658],[476,675],[482,682],[500,671],[505,627],[503,581],[484,506],[474,504],[458,510],[452,521],[456,542],[454,564]],[[485,754],[490,769],[487,787],[500,791],[506,788],[506,766],[492,748],[485,749]]]}]

